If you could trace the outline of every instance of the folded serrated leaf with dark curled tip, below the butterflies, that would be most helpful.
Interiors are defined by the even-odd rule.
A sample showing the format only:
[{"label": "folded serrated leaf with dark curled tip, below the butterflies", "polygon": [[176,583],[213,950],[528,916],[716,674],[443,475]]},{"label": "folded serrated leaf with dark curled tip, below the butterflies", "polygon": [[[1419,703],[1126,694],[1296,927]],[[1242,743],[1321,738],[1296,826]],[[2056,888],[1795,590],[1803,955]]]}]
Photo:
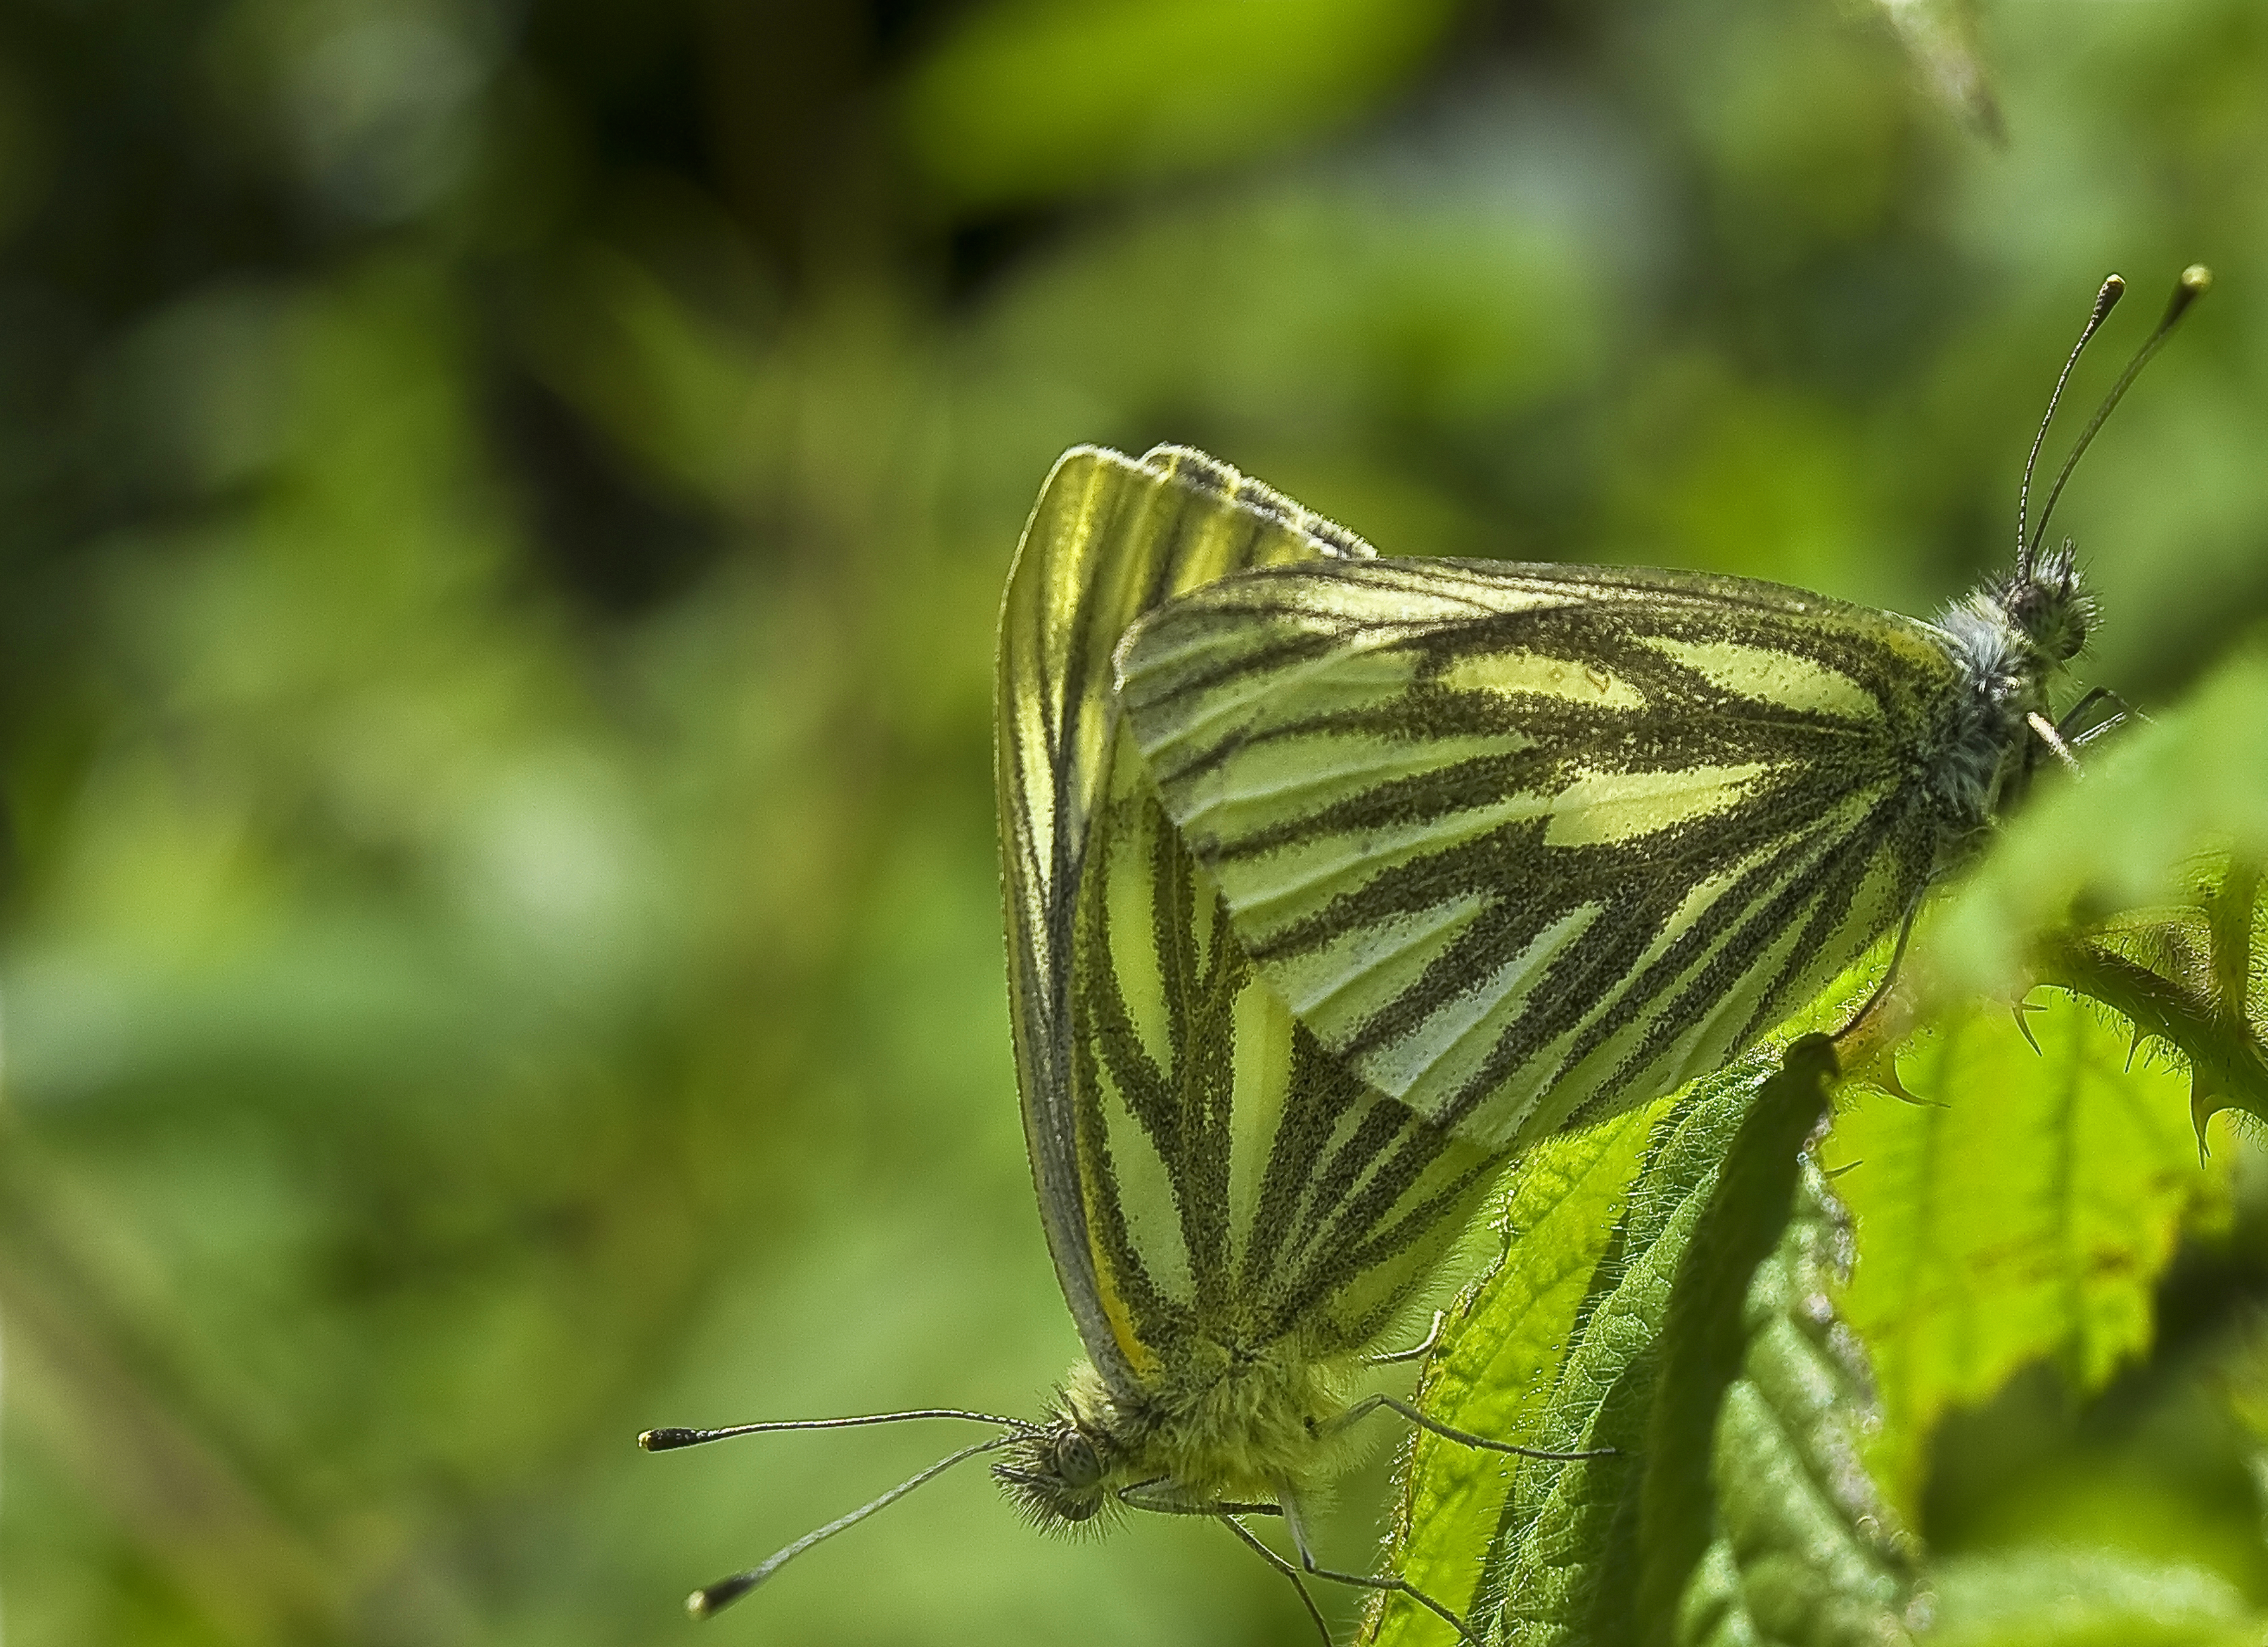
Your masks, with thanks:
[{"label": "folded serrated leaf with dark curled tip, below the butterflies", "polygon": [[[1839,1214],[1817,1175],[1799,1186],[1830,1069],[1819,1037],[1785,1066],[1760,1050],[1522,1168],[1520,1234],[1461,1302],[1424,1404],[1522,1445],[1613,1452],[1510,1468],[1413,1452],[1399,1570],[1492,1638],[1901,1636],[1903,1556],[1860,1470],[1864,1391],[1826,1304]],[[1535,1245],[1549,1257],[1531,1268]],[[1454,1633],[1390,1599],[1368,1640]]]}]

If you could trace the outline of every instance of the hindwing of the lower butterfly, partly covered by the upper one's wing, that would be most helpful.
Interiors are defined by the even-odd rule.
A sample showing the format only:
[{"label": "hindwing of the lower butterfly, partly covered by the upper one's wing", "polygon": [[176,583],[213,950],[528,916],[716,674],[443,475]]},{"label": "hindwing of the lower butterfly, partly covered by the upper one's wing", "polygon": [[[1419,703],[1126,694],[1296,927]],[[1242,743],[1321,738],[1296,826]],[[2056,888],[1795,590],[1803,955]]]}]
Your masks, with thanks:
[{"label": "hindwing of the lower butterfly, partly covered by the upper one's wing", "polygon": [[1073,921],[1064,1112],[1098,1302],[1150,1393],[1397,1325],[1495,1155],[1331,1057],[1120,740]]}]

